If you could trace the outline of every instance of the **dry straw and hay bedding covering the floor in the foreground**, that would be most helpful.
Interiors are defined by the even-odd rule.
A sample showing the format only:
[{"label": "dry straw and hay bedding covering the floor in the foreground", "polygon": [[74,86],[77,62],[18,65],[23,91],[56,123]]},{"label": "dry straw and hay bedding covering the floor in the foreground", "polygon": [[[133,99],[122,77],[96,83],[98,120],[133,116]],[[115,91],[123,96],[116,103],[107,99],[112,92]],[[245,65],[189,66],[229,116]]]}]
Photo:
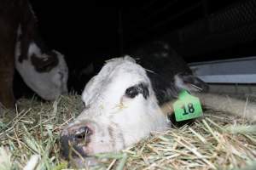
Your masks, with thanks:
[{"label": "dry straw and hay bedding covering the floor in the foreground", "polygon": [[[30,160],[35,161],[31,169],[67,168],[60,156],[59,132],[79,115],[80,96],[46,103],[20,99],[18,105],[0,119],[0,170],[22,169]],[[96,157],[102,163],[94,169],[256,169],[256,126],[205,111],[191,126],[154,134],[120,153]]]}]

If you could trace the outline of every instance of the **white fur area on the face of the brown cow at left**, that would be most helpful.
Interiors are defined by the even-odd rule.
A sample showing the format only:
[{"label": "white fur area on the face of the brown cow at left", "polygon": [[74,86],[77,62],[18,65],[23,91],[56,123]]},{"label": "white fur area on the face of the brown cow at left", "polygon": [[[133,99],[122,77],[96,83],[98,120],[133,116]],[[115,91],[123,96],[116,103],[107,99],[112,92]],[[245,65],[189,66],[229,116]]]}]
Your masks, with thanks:
[{"label": "white fur area on the face of the brown cow at left", "polygon": [[[19,27],[20,28],[20,27]],[[64,56],[53,50],[59,60],[49,72],[38,72],[32,65],[31,56],[36,54],[39,58],[47,59],[46,54],[42,54],[37,44],[31,42],[28,48],[28,59],[23,59],[20,63],[20,42],[16,42],[15,48],[15,66],[20,76],[26,82],[27,86],[32,88],[40,97],[47,100],[56,99],[59,95],[67,93],[68,69]]]}]

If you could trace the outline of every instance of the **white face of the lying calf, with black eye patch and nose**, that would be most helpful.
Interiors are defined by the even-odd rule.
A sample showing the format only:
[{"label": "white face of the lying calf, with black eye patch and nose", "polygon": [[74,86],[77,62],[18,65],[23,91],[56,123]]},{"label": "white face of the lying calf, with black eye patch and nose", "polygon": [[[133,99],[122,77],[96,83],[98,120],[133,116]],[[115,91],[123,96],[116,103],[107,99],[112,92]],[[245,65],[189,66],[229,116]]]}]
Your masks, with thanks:
[{"label": "white face of the lying calf, with black eye patch and nose", "polygon": [[121,150],[168,127],[146,71],[129,56],[109,60],[82,99],[84,111],[61,133],[66,157]]}]

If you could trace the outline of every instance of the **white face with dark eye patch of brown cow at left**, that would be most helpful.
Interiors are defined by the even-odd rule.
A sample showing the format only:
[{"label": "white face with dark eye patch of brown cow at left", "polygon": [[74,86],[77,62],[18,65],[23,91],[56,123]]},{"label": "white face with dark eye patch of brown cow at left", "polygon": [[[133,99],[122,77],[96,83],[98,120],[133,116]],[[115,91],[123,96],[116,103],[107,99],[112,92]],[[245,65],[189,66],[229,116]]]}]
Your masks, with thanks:
[{"label": "white face with dark eye patch of brown cow at left", "polygon": [[26,85],[46,100],[66,94],[68,69],[64,56],[55,50],[45,50],[34,40],[25,46],[21,34],[19,27],[15,67]]}]

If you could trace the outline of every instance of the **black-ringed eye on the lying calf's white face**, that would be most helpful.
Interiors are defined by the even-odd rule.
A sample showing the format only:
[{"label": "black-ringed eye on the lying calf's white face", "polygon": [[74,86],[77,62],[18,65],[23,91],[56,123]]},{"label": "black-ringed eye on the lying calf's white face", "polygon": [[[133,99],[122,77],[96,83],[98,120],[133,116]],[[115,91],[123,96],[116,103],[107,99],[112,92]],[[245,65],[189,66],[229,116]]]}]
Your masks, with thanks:
[{"label": "black-ringed eye on the lying calf's white face", "polygon": [[149,95],[148,85],[140,83],[125,90],[125,96],[131,99],[135,98],[138,94],[143,94],[143,97],[147,99]]}]

